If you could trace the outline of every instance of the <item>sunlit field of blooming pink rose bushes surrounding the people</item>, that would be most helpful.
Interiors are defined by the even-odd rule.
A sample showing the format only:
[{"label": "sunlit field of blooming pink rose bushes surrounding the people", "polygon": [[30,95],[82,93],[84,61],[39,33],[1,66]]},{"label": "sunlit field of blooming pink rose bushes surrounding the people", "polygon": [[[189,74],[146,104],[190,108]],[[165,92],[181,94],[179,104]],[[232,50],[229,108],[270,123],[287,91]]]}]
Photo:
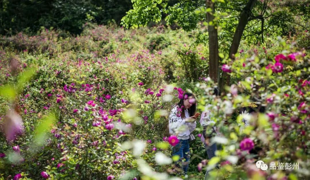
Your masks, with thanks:
[{"label": "sunlit field of blooming pink rose bushes surrounding the people", "polygon": [[[2,36],[0,179],[203,179],[206,169],[210,179],[309,179],[309,32],[241,41],[235,61],[220,54],[231,77],[221,96],[197,34],[86,23],[76,37]],[[208,141],[222,146],[208,159],[197,123],[188,176],[175,175],[168,129],[184,92],[197,112],[211,105],[219,135]],[[241,115],[253,102],[262,110]],[[258,160],[283,167],[263,171]]]}]

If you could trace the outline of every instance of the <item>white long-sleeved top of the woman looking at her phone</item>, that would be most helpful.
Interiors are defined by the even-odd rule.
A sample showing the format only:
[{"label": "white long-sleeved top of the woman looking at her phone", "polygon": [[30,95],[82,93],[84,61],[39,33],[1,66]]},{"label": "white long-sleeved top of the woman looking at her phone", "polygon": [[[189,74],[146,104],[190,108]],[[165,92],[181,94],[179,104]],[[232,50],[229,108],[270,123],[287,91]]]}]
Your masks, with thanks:
[{"label": "white long-sleeved top of the woman looking at her phone", "polygon": [[[177,135],[178,139],[189,139],[190,133],[192,133],[196,128],[196,121],[192,123],[185,122],[186,118],[189,118],[188,110],[185,109],[185,118],[178,117],[176,114],[178,113],[178,106],[174,106],[169,115],[169,133],[171,135]],[[183,126],[184,131],[176,133],[175,131]],[[182,129],[183,130],[183,129]]]}]

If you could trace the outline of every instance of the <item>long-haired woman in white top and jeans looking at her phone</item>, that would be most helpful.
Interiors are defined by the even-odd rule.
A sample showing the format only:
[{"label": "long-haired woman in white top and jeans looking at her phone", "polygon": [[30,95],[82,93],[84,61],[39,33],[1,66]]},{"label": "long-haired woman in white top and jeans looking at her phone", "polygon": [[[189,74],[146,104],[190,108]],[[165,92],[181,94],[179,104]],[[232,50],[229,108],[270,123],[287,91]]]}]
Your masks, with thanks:
[{"label": "long-haired woman in white top and jeans looking at her phone", "polygon": [[179,155],[177,166],[182,167],[184,174],[187,174],[189,165],[190,134],[196,128],[196,118],[199,115],[195,113],[196,99],[192,93],[185,92],[183,99],[172,108],[169,115],[169,133],[179,139],[179,143],[172,149],[172,155]]}]

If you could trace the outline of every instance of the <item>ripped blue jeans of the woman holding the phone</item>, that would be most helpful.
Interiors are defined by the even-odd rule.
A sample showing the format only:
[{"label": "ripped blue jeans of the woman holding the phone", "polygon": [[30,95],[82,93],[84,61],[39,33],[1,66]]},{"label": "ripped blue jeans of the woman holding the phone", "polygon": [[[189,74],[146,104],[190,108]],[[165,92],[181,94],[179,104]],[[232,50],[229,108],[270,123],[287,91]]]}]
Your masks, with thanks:
[{"label": "ripped blue jeans of the woman holding the phone", "polygon": [[[189,165],[189,139],[183,140],[179,139],[179,143],[172,147],[172,155],[179,155],[179,162],[177,162],[177,166],[182,165],[182,169],[185,174],[187,174],[188,171],[188,165]],[[185,159],[185,161],[184,161]],[[183,162],[184,161],[184,162]],[[180,165],[181,164],[181,165]]]}]

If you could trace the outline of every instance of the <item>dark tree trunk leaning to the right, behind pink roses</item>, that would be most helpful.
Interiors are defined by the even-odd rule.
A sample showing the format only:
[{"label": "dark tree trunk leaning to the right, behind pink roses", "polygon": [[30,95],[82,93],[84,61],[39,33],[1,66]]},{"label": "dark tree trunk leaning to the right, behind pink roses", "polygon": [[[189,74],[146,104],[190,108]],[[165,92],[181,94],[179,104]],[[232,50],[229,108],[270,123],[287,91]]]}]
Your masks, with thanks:
[{"label": "dark tree trunk leaning to the right, behind pink roses", "polygon": [[[239,23],[237,25],[235,34],[234,34],[233,39],[232,39],[232,44],[231,44],[230,49],[229,49],[229,58],[232,61],[235,60],[235,54],[237,53],[244,28],[246,27],[246,25],[248,23],[248,19],[250,17],[250,11],[253,9],[256,1],[257,0],[249,0],[246,3],[246,7],[243,8],[243,10],[240,14]],[[230,83],[229,74],[223,72],[221,84],[220,84],[220,89],[223,90],[224,86],[229,85],[229,83]]]}]

